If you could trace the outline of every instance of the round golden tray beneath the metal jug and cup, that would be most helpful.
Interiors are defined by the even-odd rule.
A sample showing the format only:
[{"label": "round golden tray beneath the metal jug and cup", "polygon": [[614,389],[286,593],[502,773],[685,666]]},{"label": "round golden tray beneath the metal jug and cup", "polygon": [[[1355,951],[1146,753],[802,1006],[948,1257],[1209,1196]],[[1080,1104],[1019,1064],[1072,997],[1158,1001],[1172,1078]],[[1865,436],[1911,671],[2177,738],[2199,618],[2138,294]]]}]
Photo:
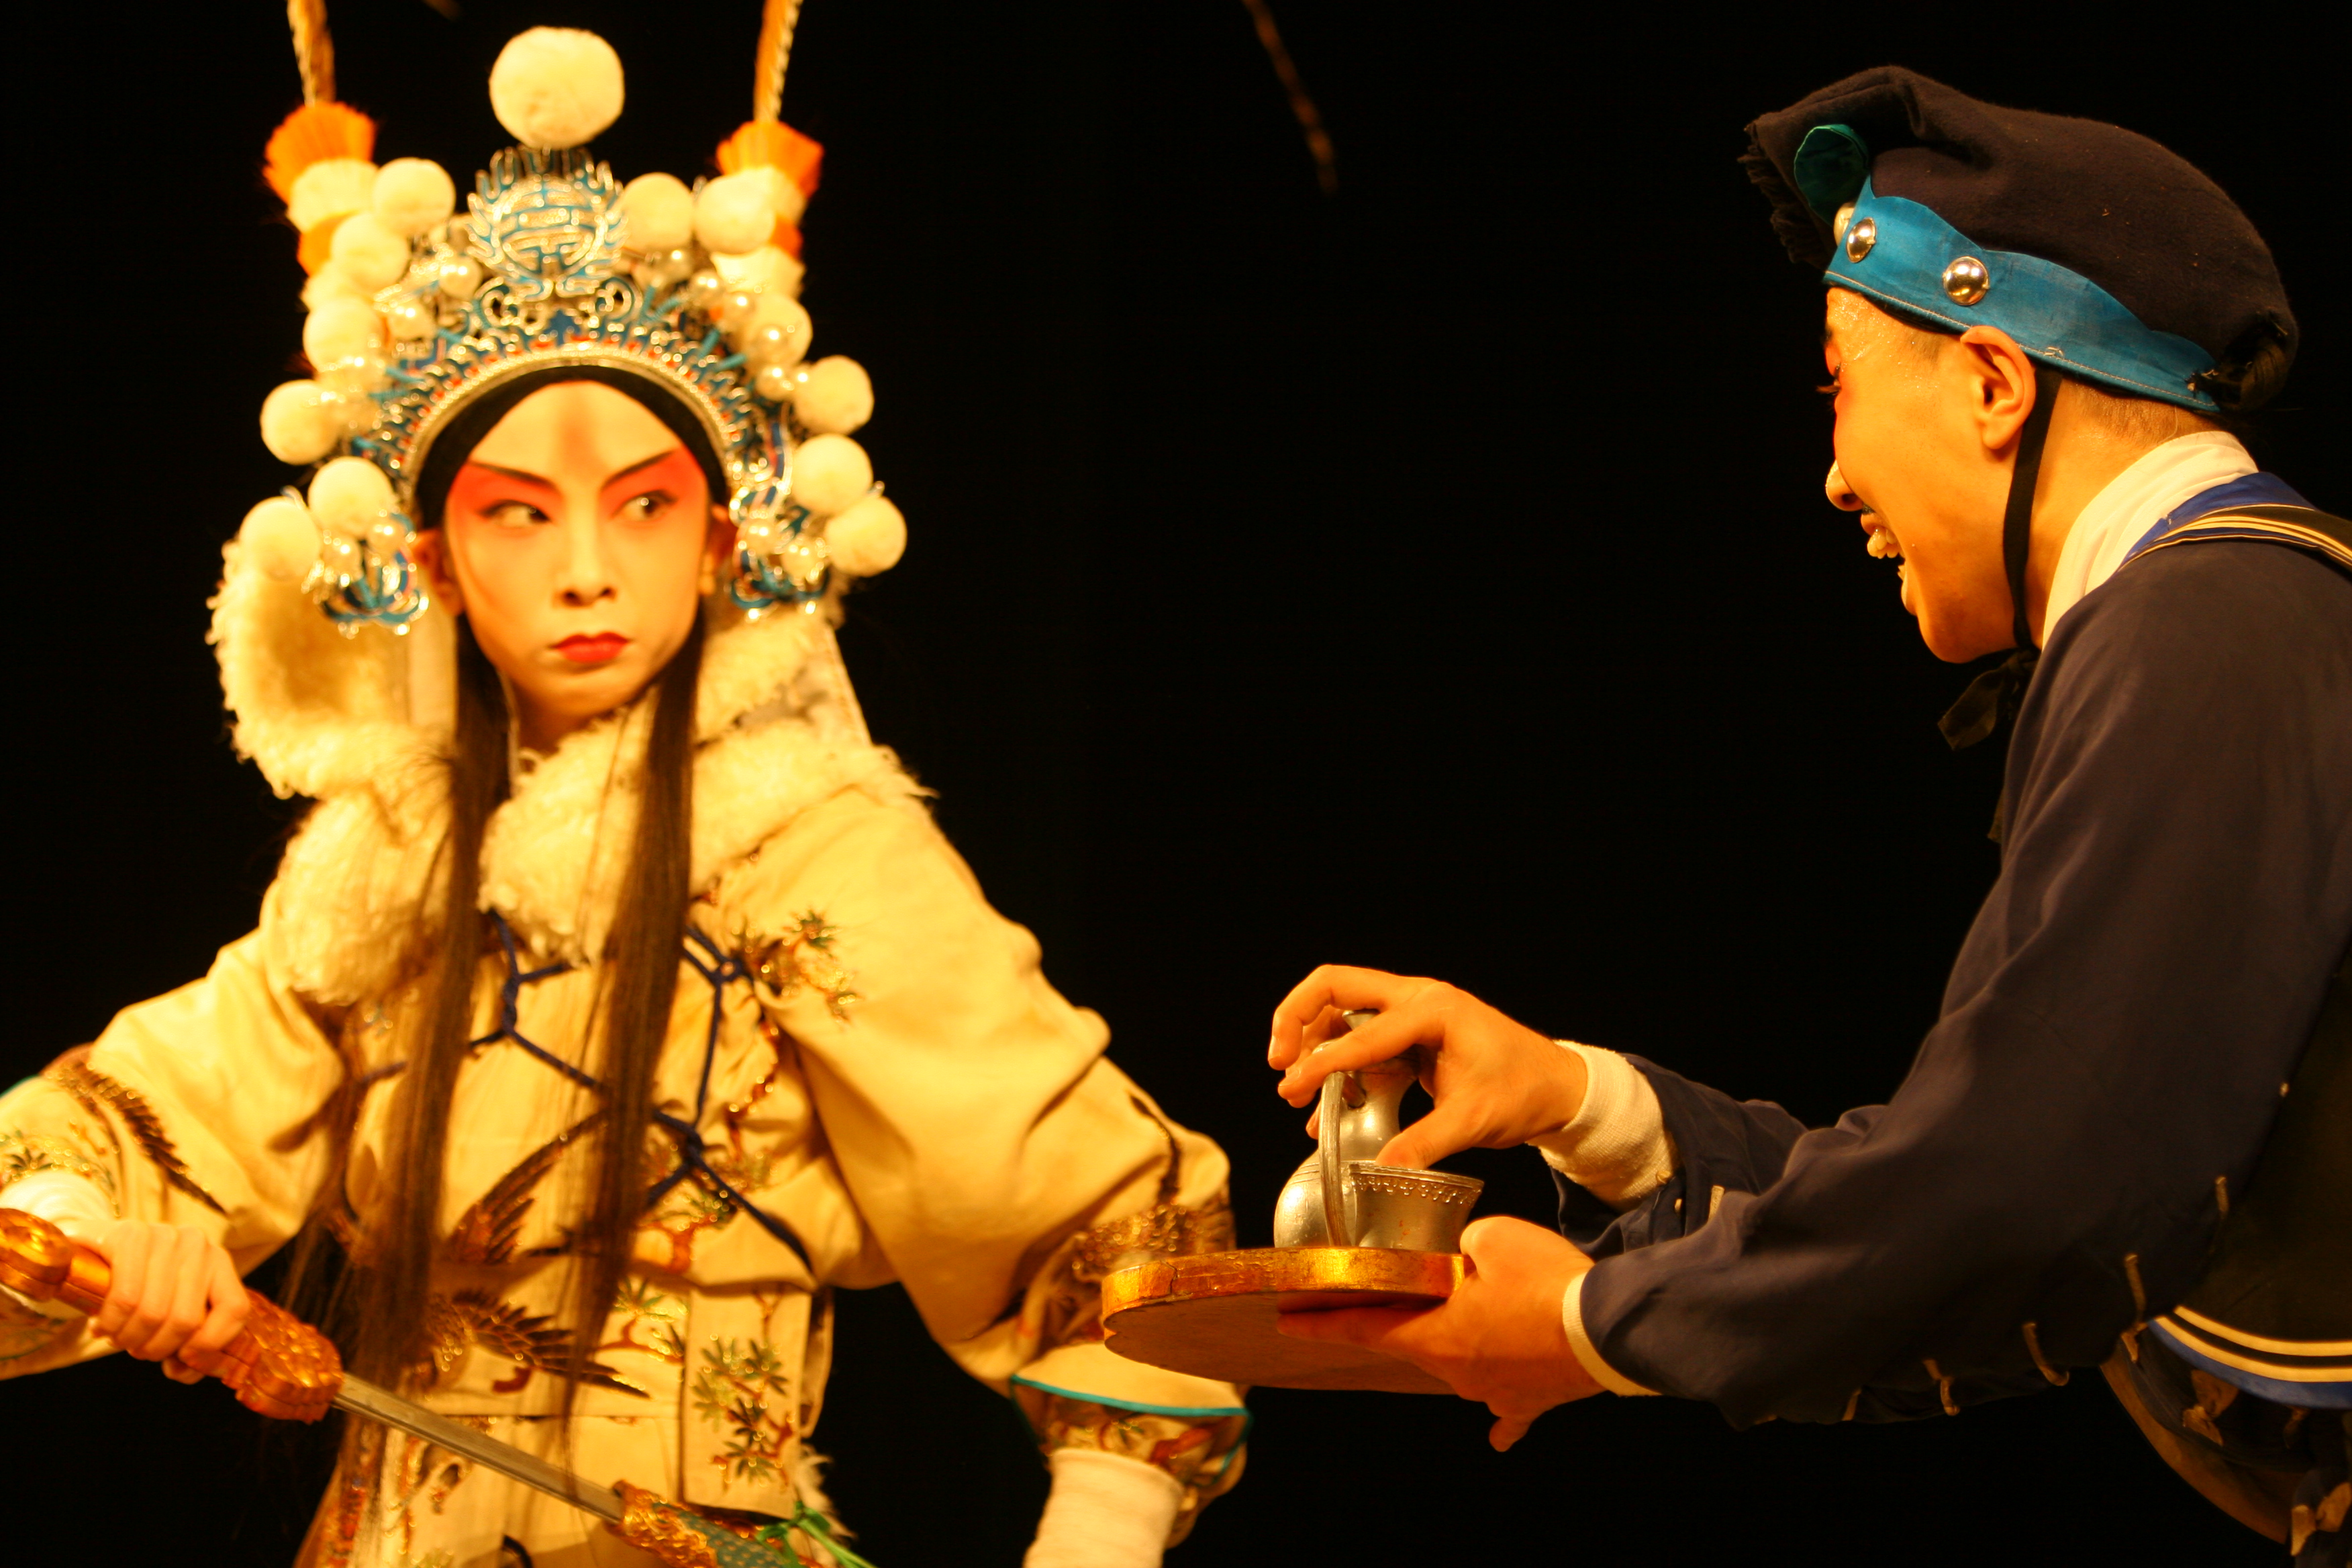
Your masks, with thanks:
[{"label": "round golden tray beneath the metal jug and cup", "polygon": [[1103,1281],[1105,1345],[1129,1361],[1272,1389],[1449,1394],[1411,1361],[1362,1345],[1289,1340],[1277,1312],[1435,1307],[1461,1284],[1461,1253],[1381,1246],[1261,1246],[1155,1258]]}]

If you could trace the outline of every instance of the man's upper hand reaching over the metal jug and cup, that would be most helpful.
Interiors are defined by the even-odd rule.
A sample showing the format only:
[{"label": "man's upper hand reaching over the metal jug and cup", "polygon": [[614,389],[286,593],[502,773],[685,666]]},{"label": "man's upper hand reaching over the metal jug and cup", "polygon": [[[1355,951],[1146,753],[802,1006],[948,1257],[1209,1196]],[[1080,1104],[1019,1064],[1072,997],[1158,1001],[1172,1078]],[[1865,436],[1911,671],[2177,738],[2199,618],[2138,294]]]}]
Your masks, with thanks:
[{"label": "man's upper hand reaching over the metal jug and cup", "polygon": [[[1348,1030],[1345,1013],[1381,1016]],[[1557,1133],[1585,1103],[1573,1051],[1444,980],[1324,964],[1275,1009],[1265,1063],[1277,1093],[1305,1107],[1322,1081],[1428,1046],[1421,1086],[1437,1107],[1381,1150],[1390,1166],[1432,1166],[1458,1150],[1508,1150]]]}]

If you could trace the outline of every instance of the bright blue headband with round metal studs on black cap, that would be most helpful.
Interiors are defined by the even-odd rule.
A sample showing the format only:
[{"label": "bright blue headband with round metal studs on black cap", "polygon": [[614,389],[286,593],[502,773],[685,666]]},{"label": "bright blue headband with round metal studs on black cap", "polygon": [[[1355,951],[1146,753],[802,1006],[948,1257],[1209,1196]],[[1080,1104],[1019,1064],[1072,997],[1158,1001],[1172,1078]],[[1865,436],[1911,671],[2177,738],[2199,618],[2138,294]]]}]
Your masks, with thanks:
[{"label": "bright blue headband with round metal studs on black cap", "polygon": [[2213,369],[2213,355],[2154,331],[2082,273],[1985,249],[1933,209],[1877,195],[1870,146],[1853,127],[1816,125],[1792,172],[1806,205],[1837,230],[1830,270],[1820,275],[1825,284],[1952,331],[1999,327],[2027,355],[2131,397],[2220,411],[2199,381]]}]

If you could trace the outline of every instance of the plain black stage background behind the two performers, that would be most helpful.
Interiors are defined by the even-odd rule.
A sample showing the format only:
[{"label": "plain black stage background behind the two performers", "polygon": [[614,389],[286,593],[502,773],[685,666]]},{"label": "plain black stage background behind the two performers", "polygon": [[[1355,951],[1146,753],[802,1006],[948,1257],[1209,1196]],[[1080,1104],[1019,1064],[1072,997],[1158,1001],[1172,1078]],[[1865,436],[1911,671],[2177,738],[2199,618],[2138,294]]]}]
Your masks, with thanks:
[{"label": "plain black stage background behind the two performers", "polygon": [[[1232,1152],[1244,1244],[1308,1147],[1265,1016],[1324,959],[1816,1121],[1884,1098],[1933,1018],[1999,762],[1943,750],[1964,672],[1820,501],[1820,289],[1733,167],[1748,118],[1900,61],[2185,153],[2303,315],[2258,456],[2352,501],[2319,33],[1905,9],[1275,0],[1327,200],[1237,0],[809,5],[804,299],[816,350],[873,371],[861,440],[913,522],[851,599],[851,670],[1056,985]],[[619,47],[623,179],[691,179],[748,118],[750,0],[350,0],[341,96],[379,158],[463,181],[503,141],[489,61],[541,21]],[[287,480],[254,416],[301,329],[259,179],[299,101],[282,12],[16,26],[9,1077],[200,973],[296,816],[228,752],[202,602]],[[1451,1164],[1489,1211],[1550,1204],[1534,1154]],[[266,1448],[219,1385],[118,1356],[0,1401],[5,1488],[40,1500],[12,1547],[45,1516],[280,1563],[315,1497],[315,1448]],[[1599,1399],[1501,1458],[1458,1401],[1251,1406],[1251,1474],[1178,1563],[2279,1559],[2096,1375],[1893,1429]],[[1035,1458],[896,1288],[844,1302],[818,1443],[887,1568],[1018,1561]]]}]

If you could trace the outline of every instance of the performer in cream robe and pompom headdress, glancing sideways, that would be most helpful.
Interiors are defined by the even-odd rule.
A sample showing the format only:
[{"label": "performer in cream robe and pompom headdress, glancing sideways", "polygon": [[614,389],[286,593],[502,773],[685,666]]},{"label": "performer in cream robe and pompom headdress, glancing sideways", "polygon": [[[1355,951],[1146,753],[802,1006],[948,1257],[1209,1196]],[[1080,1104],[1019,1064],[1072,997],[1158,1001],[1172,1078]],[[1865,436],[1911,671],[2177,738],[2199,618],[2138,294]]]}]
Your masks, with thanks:
[{"label": "performer in cream robe and pompom headdress, glancing sideways", "polygon": [[[113,1262],[94,1316],[0,1300],[0,1378],[193,1380],[301,1237],[360,1375],[828,1561],[833,1291],[901,1281],[1047,1453],[1028,1561],[1157,1563],[1247,1413],[1108,1354],[1096,1284],[1230,1246],[1225,1159],[866,736],[830,628],[903,520],[866,374],[804,362],[816,146],[769,99],[724,176],[621,188],[588,33],[492,101],[520,146],[459,216],[327,94],[270,143],[315,374],[263,440],[318,468],[223,550],[214,639],[238,748],[318,804],[212,973],[0,1098],[0,1206]],[[303,1561],[652,1559],[353,1420]]]}]

